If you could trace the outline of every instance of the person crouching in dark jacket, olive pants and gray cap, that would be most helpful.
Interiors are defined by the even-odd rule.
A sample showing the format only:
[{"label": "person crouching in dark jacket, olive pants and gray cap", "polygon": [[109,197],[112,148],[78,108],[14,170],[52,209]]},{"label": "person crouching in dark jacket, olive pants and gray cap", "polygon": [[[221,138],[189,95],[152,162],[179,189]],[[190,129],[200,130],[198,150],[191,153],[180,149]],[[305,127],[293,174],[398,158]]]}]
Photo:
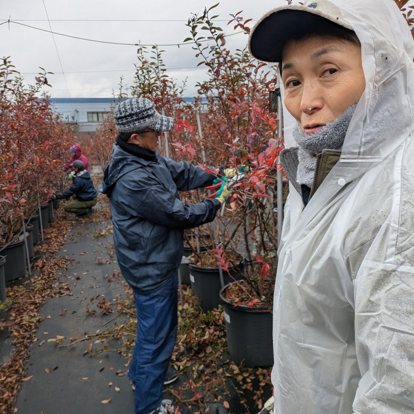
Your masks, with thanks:
[{"label": "person crouching in dark jacket, olive pants and gray cap", "polygon": [[82,161],[74,161],[72,169],[72,185],[63,194],[56,195],[56,198],[63,200],[73,196],[75,200],[65,205],[63,209],[68,213],[75,213],[77,216],[85,216],[92,212],[91,209],[96,204],[98,191]]}]

